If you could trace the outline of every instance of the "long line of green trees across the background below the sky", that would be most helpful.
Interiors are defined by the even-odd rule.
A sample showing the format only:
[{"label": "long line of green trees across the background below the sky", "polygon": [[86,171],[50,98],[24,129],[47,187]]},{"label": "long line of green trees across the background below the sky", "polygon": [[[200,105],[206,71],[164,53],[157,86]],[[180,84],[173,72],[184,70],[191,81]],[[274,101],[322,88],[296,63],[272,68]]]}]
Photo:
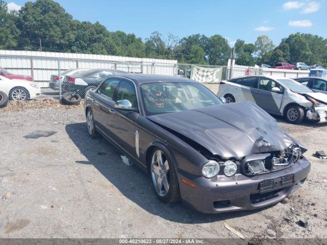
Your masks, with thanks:
[{"label": "long line of green trees across the background below the sky", "polygon": [[[134,34],[109,32],[99,22],[74,20],[52,0],[26,2],[19,10],[8,13],[7,3],[0,0],[0,49],[74,52],[159,59],[177,59],[183,63],[226,65],[231,48],[221,35],[206,37],[195,34],[180,40],[172,34],[163,37],[154,32],[144,42]],[[327,65],[327,39],[312,34],[291,34],[274,48],[265,35],[255,43],[238,39],[236,63],[305,62]]]}]

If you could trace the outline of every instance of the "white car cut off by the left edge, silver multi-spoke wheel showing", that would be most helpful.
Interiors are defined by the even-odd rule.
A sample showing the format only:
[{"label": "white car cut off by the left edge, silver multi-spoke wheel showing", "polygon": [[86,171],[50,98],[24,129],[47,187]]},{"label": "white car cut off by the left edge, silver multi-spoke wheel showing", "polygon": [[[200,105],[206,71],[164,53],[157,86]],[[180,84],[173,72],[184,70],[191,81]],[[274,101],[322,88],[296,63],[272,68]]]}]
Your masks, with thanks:
[{"label": "white car cut off by the left edge, silver multi-spoke wheel showing", "polygon": [[41,89],[35,82],[0,77],[0,91],[8,95],[9,100],[25,101],[40,95]]}]

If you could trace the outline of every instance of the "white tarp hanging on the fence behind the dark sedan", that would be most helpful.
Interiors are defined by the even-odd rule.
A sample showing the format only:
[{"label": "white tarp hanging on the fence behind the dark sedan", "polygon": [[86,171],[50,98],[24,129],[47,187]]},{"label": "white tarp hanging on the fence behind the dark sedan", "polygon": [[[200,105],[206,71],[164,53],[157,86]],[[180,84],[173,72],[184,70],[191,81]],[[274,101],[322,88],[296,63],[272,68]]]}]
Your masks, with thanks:
[{"label": "white tarp hanging on the fence behind the dark sedan", "polygon": [[199,83],[218,83],[221,81],[223,67],[203,67],[192,65],[191,79]]}]

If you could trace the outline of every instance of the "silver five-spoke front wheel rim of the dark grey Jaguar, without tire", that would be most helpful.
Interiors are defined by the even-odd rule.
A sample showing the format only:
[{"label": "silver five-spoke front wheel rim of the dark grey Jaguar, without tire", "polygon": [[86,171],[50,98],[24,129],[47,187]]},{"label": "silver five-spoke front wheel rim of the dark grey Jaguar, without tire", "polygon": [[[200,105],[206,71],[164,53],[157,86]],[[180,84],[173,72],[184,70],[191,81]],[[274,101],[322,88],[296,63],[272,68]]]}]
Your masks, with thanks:
[{"label": "silver five-spoke front wheel rim of the dark grey Jaguar, without tire", "polygon": [[157,193],[164,197],[169,191],[169,163],[164,152],[157,150],[151,160],[151,177]]}]

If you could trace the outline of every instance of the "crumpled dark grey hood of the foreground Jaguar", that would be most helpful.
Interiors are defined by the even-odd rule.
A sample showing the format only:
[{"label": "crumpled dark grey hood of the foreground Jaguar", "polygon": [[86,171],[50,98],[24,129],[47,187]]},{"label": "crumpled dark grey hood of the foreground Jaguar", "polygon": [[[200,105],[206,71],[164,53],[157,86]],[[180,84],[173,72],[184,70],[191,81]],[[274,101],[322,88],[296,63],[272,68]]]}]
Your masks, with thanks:
[{"label": "crumpled dark grey hood of the foreground Jaguar", "polygon": [[[276,120],[251,102],[209,106],[147,116],[183,140],[194,141],[222,159],[283,151],[292,143]],[[186,137],[186,139],[185,139]]]}]

